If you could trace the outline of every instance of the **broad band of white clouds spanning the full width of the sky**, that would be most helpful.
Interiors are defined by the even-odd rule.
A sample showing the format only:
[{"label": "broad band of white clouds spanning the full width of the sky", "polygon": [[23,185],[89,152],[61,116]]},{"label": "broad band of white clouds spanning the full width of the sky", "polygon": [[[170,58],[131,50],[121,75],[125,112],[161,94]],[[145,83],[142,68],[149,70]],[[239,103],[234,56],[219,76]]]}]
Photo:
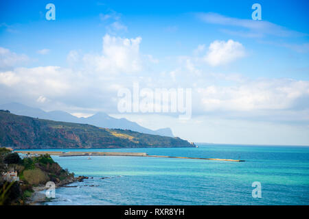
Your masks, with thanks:
[{"label": "broad band of white clouds spanning the full width of the sky", "polygon": [[[199,45],[194,51],[196,58],[185,57],[176,68],[158,73],[159,76],[148,74],[144,68],[157,65],[159,60],[142,54],[140,46],[140,37],[121,38],[106,34],[102,38],[102,53],[69,51],[67,68],[19,67],[16,60],[27,60],[25,55],[1,48],[2,66],[12,69],[0,70],[0,92],[7,94],[1,96],[0,101],[28,101],[29,105],[45,105],[51,110],[78,109],[80,113],[117,113],[118,90],[130,89],[136,81],[141,88],[192,88],[193,116],[224,112],[224,117],[236,112],[252,118],[263,112],[265,118],[280,114],[278,120],[286,115],[293,115],[290,116],[293,120],[297,112],[301,112],[301,118],[309,121],[308,81],[247,79],[237,74],[205,72],[199,65],[216,67],[244,57],[246,52],[240,42],[214,40],[208,48]],[[217,81],[229,84],[222,86]]]}]

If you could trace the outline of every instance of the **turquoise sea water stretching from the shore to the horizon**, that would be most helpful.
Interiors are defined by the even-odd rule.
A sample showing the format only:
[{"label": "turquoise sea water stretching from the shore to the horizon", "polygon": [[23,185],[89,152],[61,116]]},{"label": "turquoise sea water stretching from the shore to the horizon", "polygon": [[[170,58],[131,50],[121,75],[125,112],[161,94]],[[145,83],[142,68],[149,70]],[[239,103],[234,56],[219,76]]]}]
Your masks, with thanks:
[{"label": "turquoise sea water stretching from the shore to the horizon", "polygon": [[[308,205],[309,147],[197,144],[182,149],[84,149],[149,155],[244,159],[221,162],[158,157],[58,157],[62,168],[93,177],[59,188],[48,205]],[[57,151],[52,149],[50,151]],[[59,151],[82,151],[59,150]],[[102,177],[108,177],[101,179]],[[253,198],[259,181],[262,198]],[[89,186],[91,185],[91,186]]]}]

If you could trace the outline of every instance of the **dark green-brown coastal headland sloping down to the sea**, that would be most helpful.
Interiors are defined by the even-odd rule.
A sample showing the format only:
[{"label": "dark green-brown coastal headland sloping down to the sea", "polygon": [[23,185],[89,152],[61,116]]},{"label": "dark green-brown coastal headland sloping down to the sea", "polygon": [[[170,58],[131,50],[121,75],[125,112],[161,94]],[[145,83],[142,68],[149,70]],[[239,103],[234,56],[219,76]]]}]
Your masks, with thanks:
[{"label": "dark green-brown coastal headland sloping down to the sea", "polygon": [[64,123],[0,111],[0,145],[13,149],[195,147],[181,138]]}]

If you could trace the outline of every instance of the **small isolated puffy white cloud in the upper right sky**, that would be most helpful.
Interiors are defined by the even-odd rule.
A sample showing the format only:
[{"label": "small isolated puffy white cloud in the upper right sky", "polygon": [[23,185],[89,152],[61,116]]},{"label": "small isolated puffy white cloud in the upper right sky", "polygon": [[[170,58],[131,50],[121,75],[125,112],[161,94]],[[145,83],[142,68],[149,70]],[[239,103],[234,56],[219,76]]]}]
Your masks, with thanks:
[{"label": "small isolated puffy white cloud in the upper right sky", "polygon": [[205,61],[211,66],[218,66],[233,62],[244,55],[244,47],[240,42],[215,40],[209,45]]}]

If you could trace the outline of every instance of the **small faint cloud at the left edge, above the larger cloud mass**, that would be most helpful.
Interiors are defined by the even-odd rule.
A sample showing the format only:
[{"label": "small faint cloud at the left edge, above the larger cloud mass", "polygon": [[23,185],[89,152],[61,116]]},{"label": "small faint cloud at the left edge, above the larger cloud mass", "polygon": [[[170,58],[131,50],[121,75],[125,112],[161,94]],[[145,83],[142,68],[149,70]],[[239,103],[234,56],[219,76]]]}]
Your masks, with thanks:
[{"label": "small faint cloud at the left edge, above the larger cloud mass", "polygon": [[0,69],[12,68],[20,64],[25,64],[27,61],[29,61],[27,55],[18,55],[9,49],[0,47]]}]

